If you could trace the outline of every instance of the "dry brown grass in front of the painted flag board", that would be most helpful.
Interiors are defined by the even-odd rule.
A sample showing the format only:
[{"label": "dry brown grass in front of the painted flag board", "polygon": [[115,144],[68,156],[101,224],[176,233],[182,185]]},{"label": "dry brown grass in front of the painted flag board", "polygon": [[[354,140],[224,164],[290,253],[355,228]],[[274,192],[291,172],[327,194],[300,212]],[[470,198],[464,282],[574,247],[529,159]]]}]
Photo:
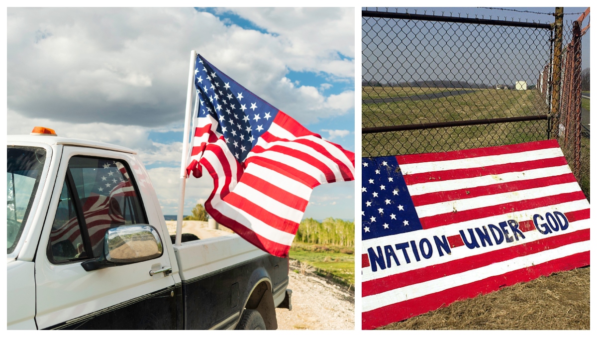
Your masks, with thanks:
[{"label": "dry brown grass in front of the painted flag board", "polygon": [[519,283],[379,329],[589,330],[590,266]]}]

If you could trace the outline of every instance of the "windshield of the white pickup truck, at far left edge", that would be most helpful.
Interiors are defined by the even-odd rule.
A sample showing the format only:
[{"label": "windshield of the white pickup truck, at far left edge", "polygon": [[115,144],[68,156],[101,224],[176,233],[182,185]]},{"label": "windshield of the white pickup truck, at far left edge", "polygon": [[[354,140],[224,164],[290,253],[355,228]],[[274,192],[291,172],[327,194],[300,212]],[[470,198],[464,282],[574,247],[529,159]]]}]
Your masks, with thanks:
[{"label": "windshield of the white pickup truck, at far left edge", "polygon": [[14,252],[29,217],[41,172],[45,149],[8,146],[7,154],[7,249]]}]

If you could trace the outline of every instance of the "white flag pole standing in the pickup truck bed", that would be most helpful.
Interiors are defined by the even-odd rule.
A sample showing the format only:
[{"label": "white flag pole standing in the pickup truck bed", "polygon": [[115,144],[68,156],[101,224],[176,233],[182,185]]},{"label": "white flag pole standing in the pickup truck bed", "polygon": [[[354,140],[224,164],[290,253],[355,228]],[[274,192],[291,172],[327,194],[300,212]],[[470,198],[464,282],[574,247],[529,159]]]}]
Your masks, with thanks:
[{"label": "white flag pole standing in the pickup truck bed", "polygon": [[186,167],[187,158],[189,155],[189,128],[190,115],[193,105],[193,84],[195,82],[195,58],[197,53],[194,50],[190,51],[190,67],[189,67],[189,87],[187,89],[187,103],[186,111],[184,112],[184,135],[183,135],[183,154],[180,160],[180,198],[179,198],[179,213],[176,216],[176,246],[180,246],[183,232],[183,212],[184,212],[184,185],[186,183]]}]

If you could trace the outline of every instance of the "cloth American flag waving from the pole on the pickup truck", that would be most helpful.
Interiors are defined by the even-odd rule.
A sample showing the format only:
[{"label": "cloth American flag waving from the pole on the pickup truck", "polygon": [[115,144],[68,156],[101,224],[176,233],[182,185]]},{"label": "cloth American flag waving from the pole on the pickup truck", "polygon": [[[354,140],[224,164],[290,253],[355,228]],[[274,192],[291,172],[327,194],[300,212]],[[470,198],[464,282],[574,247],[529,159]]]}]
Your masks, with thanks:
[{"label": "cloth American flag waving from the pole on the pickup truck", "polygon": [[354,179],[355,154],[321,139],[197,56],[199,104],[187,174],[213,177],[205,210],[242,238],[288,256],[309,197]]}]

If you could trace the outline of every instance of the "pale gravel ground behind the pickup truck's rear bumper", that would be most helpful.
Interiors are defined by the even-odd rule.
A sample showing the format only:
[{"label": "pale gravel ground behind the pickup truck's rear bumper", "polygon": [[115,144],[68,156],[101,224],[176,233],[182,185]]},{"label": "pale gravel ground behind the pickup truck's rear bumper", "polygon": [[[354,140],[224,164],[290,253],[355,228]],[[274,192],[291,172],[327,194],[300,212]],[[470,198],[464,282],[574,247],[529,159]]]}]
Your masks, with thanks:
[{"label": "pale gravel ground behind the pickup truck's rear bumper", "polygon": [[291,260],[288,289],[293,290],[293,310],[276,308],[278,330],[354,330],[355,293],[306,272],[297,274]]}]

